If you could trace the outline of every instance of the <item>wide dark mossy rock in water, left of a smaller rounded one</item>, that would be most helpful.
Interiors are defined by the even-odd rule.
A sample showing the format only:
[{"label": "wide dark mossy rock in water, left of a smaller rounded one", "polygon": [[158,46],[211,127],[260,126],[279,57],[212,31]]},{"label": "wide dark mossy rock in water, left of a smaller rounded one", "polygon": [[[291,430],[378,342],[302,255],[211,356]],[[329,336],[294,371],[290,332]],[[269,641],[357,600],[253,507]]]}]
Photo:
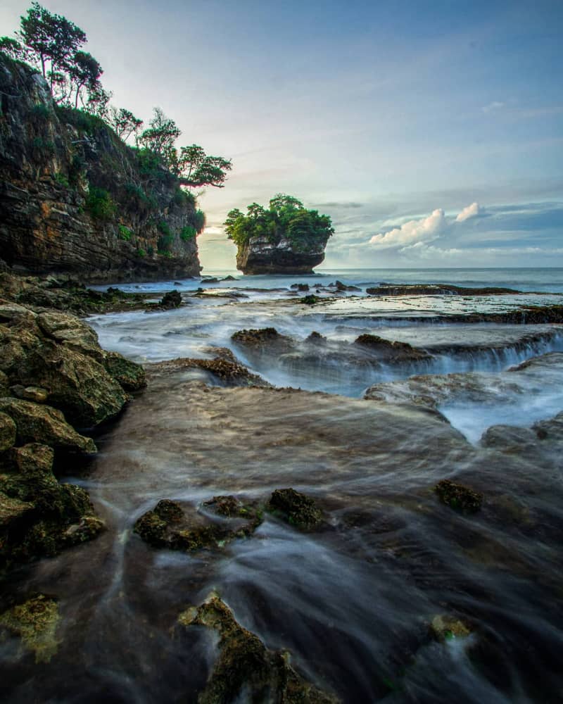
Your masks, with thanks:
[{"label": "wide dark mossy rock in water, left of a smaller rounded one", "polygon": [[201,515],[190,516],[175,501],[163,499],[137,520],[133,530],[153,547],[195,551],[222,548],[236,538],[251,535],[262,522],[258,508],[241,503],[234,496],[215,496],[203,506],[229,520],[217,522]]}]

